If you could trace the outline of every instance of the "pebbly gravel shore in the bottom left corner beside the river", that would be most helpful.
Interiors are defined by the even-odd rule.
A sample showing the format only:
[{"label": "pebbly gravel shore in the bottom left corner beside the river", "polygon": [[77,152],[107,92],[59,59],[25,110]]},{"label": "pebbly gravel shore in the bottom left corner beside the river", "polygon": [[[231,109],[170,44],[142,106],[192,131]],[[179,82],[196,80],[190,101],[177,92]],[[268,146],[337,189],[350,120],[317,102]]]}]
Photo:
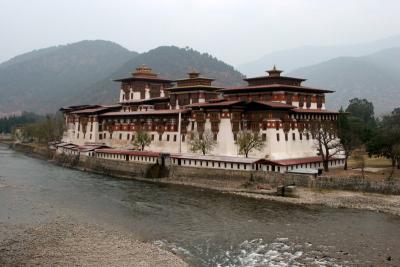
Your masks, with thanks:
[{"label": "pebbly gravel shore in the bottom left corner beside the river", "polygon": [[0,225],[0,266],[187,266],[174,254],[97,226],[57,220],[21,231]]}]

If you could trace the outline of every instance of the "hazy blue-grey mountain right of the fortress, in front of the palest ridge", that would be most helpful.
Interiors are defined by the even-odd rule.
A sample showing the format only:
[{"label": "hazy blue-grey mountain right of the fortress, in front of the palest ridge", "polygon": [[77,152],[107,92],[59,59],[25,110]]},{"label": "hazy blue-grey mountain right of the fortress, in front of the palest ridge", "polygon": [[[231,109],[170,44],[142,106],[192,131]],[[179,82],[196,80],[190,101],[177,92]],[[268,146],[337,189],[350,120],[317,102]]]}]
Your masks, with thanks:
[{"label": "hazy blue-grey mountain right of the fortress, in front of the palest ridge", "polygon": [[375,114],[400,107],[400,47],[362,57],[339,57],[299,68],[290,76],[308,79],[305,84],[332,89],[328,108],[346,107],[351,98],[374,103]]}]

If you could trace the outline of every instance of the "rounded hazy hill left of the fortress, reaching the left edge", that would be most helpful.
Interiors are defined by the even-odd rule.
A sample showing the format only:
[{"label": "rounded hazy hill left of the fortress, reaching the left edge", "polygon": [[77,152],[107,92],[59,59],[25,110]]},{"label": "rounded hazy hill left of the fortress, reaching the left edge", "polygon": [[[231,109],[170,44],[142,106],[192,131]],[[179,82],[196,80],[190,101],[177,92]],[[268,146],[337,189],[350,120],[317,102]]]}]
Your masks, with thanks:
[{"label": "rounded hazy hill left of the fortress, reaching the left edge", "polygon": [[53,112],[137,53],[109,41],[81,41],[0,64],[0,112]]}]

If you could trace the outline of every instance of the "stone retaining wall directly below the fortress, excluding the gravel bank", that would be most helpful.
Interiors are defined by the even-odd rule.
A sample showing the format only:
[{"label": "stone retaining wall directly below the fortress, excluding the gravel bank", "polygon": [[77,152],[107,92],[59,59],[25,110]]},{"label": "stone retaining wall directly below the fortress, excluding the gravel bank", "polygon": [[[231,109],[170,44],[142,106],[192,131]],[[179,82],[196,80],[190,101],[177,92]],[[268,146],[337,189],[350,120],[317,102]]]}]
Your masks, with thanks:
[{"label": "stone retaining wall directly below the fortress, excluding the gravel bank", "polygon": [[[77,165],[80,169],[95,171],[106,175],[123,178],[149,179],[168,178],[163,180],[181,181],[192,178],[191,182],[202,180],[212,185],[224,184],[268,184],[296,185],[313,189],[348,190],[356,192],[382,193],[400,195],[399,179],[366,180],[362,177],[329,177],[292,173],[271,173],[262,171],[222,170],[185,166],[170,166],[163,176],[151,176],[154,164],[124,162],[118,160],[98,159],[81,156]],[[207,182],[208,181],[208,182]],[[203,183],[204,183],[203,182]]]}]

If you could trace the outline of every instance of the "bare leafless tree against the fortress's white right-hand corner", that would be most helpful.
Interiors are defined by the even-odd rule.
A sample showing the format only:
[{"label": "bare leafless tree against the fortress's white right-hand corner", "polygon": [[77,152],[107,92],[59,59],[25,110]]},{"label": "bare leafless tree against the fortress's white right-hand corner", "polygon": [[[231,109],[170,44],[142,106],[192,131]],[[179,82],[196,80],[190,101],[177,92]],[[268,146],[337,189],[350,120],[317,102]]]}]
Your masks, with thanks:
[{"label": "bare leafless tree against the fortress's white right-hand corner", "polygon": [[324,171],[329,171],[329,160],[342,151],[340,140],[336,137],[337,127],[333,121],[315,121],[311,124],[311,135],[321,156]]}]

